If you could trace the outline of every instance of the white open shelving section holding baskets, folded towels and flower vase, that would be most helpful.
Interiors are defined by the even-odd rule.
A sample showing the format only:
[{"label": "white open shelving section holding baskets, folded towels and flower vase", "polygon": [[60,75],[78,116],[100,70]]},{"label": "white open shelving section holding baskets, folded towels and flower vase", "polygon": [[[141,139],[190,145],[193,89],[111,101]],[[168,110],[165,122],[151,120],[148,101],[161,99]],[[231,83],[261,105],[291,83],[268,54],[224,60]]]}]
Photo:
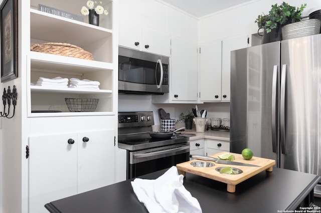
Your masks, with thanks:
[{"label": "white open shelving section holding baskets, folded towels and flower vase", "polygon": [[[63,49],[54,54],[30,50],[26,67],[28,116],[56,116],[46,112],[52,110],[62,111],[60,116],[113,114],[113,92],[117,92],[113,84],[114,72],[117,72],[114,64],[117,50],[113,47],[113,1],[103,2],[109,14],[100,15],[99,26],[89,24],[88,15],[83,16],[82,22],[46,12],[48,10],[38,10],[39,4],[81,15],[80,9],[86,1],[31,0],[30,45],[47,42],[72,44],[92,53],[94,60],[65,56],[63,52],[68,50]],[[62,53],[57,53],[59,51]],[[58,76],[99,81],[99,89],[35,85],[39,77]],[[70,112],[65,98],[98,98],[99,101],[94,112]]]}]

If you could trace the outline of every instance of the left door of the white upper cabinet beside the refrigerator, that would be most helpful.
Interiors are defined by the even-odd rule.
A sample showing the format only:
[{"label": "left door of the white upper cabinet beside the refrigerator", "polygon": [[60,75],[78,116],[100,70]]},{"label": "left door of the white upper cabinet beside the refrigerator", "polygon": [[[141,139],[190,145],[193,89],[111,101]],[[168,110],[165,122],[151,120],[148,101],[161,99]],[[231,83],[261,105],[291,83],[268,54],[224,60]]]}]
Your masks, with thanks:
[{"label": "left door of the white upper cabinet beside the refrigerator", "polygon": [[201,45],[200,100],[221,101],[222,41]]}]

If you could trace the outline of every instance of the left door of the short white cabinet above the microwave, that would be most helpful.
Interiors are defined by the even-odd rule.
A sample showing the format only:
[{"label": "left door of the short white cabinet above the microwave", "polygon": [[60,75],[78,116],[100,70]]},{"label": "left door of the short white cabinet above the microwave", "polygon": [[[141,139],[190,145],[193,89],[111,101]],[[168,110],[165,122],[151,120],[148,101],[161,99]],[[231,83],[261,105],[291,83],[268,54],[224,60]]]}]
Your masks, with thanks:
[{"label": "left door of the short white cabinet above the microwave", "polygon": [[119,23],[118,44],[133,49],[140,49],[141,27],[121,22]]}]

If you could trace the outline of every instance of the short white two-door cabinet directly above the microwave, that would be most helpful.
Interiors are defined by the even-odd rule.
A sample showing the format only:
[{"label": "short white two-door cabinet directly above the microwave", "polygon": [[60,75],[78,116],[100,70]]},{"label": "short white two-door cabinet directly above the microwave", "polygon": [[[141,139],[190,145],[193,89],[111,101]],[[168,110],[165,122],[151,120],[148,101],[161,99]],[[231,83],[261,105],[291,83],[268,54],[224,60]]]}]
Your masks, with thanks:
[{"label": "short white two-door cabinet directly above the microwave", "polygon": [[119,45],[160,54],[171,55],[171,36],[133,24],[119,24]]}]

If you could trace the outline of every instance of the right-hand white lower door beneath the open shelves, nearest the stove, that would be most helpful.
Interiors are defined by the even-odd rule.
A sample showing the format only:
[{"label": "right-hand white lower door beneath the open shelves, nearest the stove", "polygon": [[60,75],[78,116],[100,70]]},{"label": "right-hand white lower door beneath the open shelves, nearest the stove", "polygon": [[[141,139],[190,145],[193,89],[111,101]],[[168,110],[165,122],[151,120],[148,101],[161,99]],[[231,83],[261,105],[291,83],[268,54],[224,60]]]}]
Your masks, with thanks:
[{"label": "right-hand white lower door beneath the open shelves, nearest the stove", "polygon": [[114,130],[78,133],[78,193],[114,183]]}]

